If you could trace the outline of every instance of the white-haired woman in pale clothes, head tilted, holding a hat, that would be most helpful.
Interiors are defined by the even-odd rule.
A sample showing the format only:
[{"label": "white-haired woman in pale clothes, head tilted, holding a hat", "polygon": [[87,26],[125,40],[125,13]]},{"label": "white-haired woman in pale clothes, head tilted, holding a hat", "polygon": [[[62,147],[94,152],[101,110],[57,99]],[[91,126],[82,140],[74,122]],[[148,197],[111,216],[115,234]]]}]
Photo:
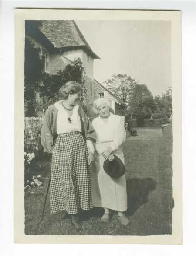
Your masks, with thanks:
[{"label": "white-haired woman in pale clothes, head tilted, holding a hat", "polygon": [[120,116],[109,112],[109,102],[99,98],[94,102],[94,110],[99,116],[92,122],[97,140],[95,143],[95,166],[92,167],[92,200],[93,206],[103,207],[105,212],[101,221],[110,220],[109,209],[118,212],[117,217],[121,224],[128,225],[129,220],[123,214],[127,210],[127,192],[125,175],[120,178],[111,178],[105,173],[103,163],[105,159],[112,161],[113,155],[118,156],[123,163],[124,156],[121,144],[125,141],[125,128]]}]

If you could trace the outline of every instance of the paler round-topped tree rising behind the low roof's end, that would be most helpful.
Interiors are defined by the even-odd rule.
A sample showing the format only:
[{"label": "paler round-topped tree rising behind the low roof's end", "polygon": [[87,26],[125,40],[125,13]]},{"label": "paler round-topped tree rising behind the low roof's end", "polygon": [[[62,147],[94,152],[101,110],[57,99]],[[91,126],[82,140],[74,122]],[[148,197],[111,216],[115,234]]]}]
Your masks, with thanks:
[{"label": "paler round-topped tree rising behind the low roof's end", "polygon": [[127,74],[116,74],[112,75],[112,78],[106,80],[103,84],[122,101],[128,102],[137,83],[135,79]]}]

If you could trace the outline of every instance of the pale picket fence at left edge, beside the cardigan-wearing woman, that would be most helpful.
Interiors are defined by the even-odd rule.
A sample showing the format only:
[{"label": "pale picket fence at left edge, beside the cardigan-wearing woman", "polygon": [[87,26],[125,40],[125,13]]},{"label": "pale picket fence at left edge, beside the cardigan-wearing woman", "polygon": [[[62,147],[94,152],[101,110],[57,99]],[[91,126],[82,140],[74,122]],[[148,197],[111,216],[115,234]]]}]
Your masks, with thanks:
[{"label": "pale picket fence at left edge, beside the cardigan-wearing woman", "polygon": [[43,123],[44,116],[24,118],[24,150],[34,152],[36,157],[43,155],[41,146],[41,126]]}]

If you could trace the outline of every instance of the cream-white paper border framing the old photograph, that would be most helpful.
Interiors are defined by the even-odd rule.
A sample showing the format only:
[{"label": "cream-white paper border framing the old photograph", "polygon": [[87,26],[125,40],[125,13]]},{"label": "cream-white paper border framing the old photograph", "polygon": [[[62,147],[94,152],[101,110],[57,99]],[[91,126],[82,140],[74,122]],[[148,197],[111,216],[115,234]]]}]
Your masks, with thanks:
[{"label": "cream-white paper border framing the old photograph", "polygon": [[[46,236],[24,234],[24,21],[67,20],[166,20],[171,21],[173,104],[173,197],[172,235],[151,236]],[[118,10],[15,10],[15,243],[182,244],[182,95],[180,11]],[[20,63],[20,65],[18,64]]]}]

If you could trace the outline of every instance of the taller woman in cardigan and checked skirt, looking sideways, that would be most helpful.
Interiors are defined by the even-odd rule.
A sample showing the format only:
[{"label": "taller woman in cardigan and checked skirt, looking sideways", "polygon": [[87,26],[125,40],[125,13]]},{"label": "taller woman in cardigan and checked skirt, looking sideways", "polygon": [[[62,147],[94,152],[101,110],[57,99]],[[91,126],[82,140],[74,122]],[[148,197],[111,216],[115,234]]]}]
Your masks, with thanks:
[{"label": "taller woman in cardigan and checked skirt, looking sideways", "polygon": [[62,100],[49,106],[41,130],[44,151],[52,154],[51,213],[68,212],[75,229],[81,231],[78,210],[92,208],[90,165],[96,134],[78,105],[81,85],[70,81],[59,93]]}]

